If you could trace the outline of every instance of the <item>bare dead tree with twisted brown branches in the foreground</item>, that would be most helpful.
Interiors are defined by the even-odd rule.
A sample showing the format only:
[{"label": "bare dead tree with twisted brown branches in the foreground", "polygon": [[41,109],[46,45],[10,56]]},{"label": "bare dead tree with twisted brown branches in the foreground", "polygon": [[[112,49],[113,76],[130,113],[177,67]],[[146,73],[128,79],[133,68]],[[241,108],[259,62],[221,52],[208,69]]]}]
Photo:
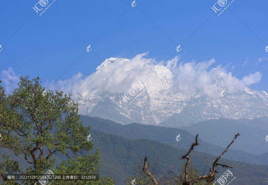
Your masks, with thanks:
[{"label": "bare dead tree with twisted brown branches in the foreground", "polygon": [[[229,167],[229,168],[233,168],[233,167],[228,166],[228,165],[226,165],[226,164],[220,164],[220,163],[218,163],[218,161],[219,161],[219,159],[222,157],[222,155],[223,155],[225,152],[227,152],[228,148],[230,147],[230,145],[233,144],[233,142],[235,141],[235,139],[236,139],[237,136],[240,136],[240,134],[238,133],[237,135],[235,135],[235,138],[233,139],[233,141],[232,141],[232,142],[228,145],[228,147],[222,152],[222,154],[221,154],[219,157],[217,157],[217,159],[214,161],[213,166],[212,166],[212,168],[210,169],[208,175],[203,175],[204,172],[205,172],[205,171],[204,171],[203,174],[202,174],[201,176],[197,176],[197,177],[195,177],[195,178],[193,178],[193,179],[188,179],[188,176],[189,176],[188,167],[189,167],[189,163],[191,162],[191,158],[190,158],[190,156],[188,156],[188,155],[189,155],[189,154],[191,153],[191,151],[194,149],[194,146],[197,146],[197,145],[198,145],[198,142],[197,142],[198,134],[197,134],[197,136],[196,136],[196,138],[195,138],[195,143],[193,143],[193,144],[191,145],[191,148],[189,149],[188,153],[187,153],[186,155],[184,155],[184,156],[181,156],[181,158],[180,158],[180,159],[187,159],[187,162],[186,162],[186,164],[185,164],[185,168],[184,168],[184,171],[185,171],[184,179],[182,179],[179,175],[174,174],[174,173],[173,173],[173,170],[172,170],[172,171],[167,170],[168,172],[167,172],[166,174],[163,173],[164,175],[162,175],[162,176],[165,176],[165,177],[163,177],[163,178],[167,179],[167,182],[168,182],[169,184],[173,184],[173,185],[175,185],[175,184],[193,185],[193,184],[197,184],[197,183],[199,183],[200,181],[204,181],[204,180],[207,181],[206,184],[211,184],[211,183],[215,180],[215,175],[216,175],[216,173],[218,173],[218,172],[216,171],[216,166],[220,165],[220,166],[225,167],[225,168],[227,168],[227,167]],[[174,169],[174,168],[173,168],[173,169]],[[156,179],[155,179],[155,177],[154,177],[154,174],[151,174],[151,173],[147,170],[147,156],[146,156],[145,159],[144,159],[143,171],[144,171],[145,174],[147,174],[147,175],[149,176],[149,178],[152,180],[152,182],[153,182],[154,185],[158,185],[158,182],[156,181]],[[173,174],[173,175],[171,175],[171,174]],[[167,175],[168,175],[169,177],[167,177]],[[173,180],[173,181],[172,181],[172,180]],[[174,181],[175,181],[175,182],[174,182]]]}]

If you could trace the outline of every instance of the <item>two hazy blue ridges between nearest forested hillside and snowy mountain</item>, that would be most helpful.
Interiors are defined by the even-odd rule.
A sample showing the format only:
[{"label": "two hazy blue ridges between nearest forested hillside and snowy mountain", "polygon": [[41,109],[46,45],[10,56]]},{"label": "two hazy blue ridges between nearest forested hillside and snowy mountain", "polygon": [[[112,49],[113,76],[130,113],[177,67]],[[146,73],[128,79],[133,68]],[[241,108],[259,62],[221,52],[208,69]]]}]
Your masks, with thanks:
[{"label": "two hazy blue ridges between nearest forested hillside and snowy mountain", "polygon": [[[226,147],[230,144],[233,140],[235,134],[239,132],[240,136],[236,138],[235,143],[233,143],[228,152],[222,156],[222,158],[246,162],[251,164],[265,164],[268,165],[268,143],[265,142],[265,137],[262,138],[262,135],[258,135],[254,129],[252,129],[253,138],[250,141],[246,133],[245,128],[241,128],[241,132],[236,129],[239,125],[233,123],[234,130],[232,131],[232,127],[229,130],[222,130],[221,133],[212,133],[211,136],[208,137],[208,133],[200,129],[194,135],[190,132],[179,129],[179,128],[168,128],[168,127],[160,127],[160,126],[153,126],[153,125],[143,125],[138,123],[131,123],[128,125],[121,125],[119,123],[115,123],[111,120],[104,120],[99,117],[90,117],[90,116],[82,116],[80,115],[80,120],[84,124],[84,126],[91,126],[91,129],[101,131],[108,134],[115,134],[127,139],[150,139],[155,140],[167,145],[174,146],[176,148],[188,150],[191,147],[192,142],[195,141],[196,134],[198,135],[198,145],[195,150],[201,151],[204,153],[208,153],[214,156],[219,156]],[[215,120],[212,120],[215,121]],[[219,125],[222,123],[222,119],[216,120],[218,123],[214,123],[214,125]],[[235,120],[236,121],[236,120]],[[227,125],[230,122],[225,122]],[[202,123],[201,123],[202,124]],[[196,124],[197,126],[199,123]],[[191,127],[190,127],[191,128]],[[229,127],[227,127],[229,128]],[[249,127],[251,128],[251,127]],[[203,128],[206,129],[206,128]],[[257,134],[257,135],[254,135]],[[176,142],[176,136],[180,134],[181,140],[180,142]],[[215,135],[219,135],[219,137]],[[94,138],[94,132],[91,133],[91,137]],[[205,141],[204,141],[205,139]],[[244,141],[244,139],[246,139]],[[210,142],[222,142],[221,146],[212,145]],[[262,143],[264,142],[264,143]],[[262,145],[257,149],[260,155],[253,154],[253,151],[262,143]],[[248,153],[245,150],[249,151]],[[194,152],[194,151],[193,151]]]}]

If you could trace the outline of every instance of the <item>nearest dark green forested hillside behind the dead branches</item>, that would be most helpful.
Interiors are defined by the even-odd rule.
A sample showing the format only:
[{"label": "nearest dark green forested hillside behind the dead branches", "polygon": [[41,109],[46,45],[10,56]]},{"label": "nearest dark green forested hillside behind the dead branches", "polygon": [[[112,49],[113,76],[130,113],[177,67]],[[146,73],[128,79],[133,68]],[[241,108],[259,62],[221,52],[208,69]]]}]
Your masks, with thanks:
[{"label": "nearest dark green forested hillside behind the dead branches", "polygon": [[[115,180],[118,185],[123,185],[127,176],[129,176],[130,173],[133,174],[132,170],[134,161],[140,162],[142,160],[143,162],[145,156],[148,157],[151,164],[153,164],[153,162],[158,158],[159,162],[155,173],[161,173],[161,171],[166,170],[167,168],[171,169],[172,167],[175,167],[175,171],[177,171],[177,169],[180,170],[181,164],[186,162],[186,160],[180,160],[179,158],[180,156],[185,155],[188,152],[188,149],[178,149],[149,139],[130,140],[114,134],[107,134],[94,130],[91,130],[91,132],[94,133],[91,140],[94,147],[90,152],[83,153],[91,154],[97,148],[100,148],[100,154],[102,156],[102,162],[100,163],[102,166],[100,176],[102,177],[107,175]],[[1,152],[4,151],[1,150]],[[217,156],[221,153],[222,152],[218,152]],[[71,155],[71,152],[69,155]],[[190,156],[192,160],[191,162],[197,166],[197,169],[200,171],[199,173],[202,173],[207,167],[205,174],[208,173],[211,165],[217,157],[196,150],[193,150]],[[13,155],[11,156],[11,159],[12,158],[16,160],[18,157]],[[20,158],[23,159],[23,157]],[[63,154],[57,153],[57,156],[54,157],[54,159],[56,159],[57,164],[59,164],[66,158]],[[234,167],[231,168],[230,171],[236,177],[236,185],[265,185],[266,182],[264,178],[268,178],[267,165],[248,164],[245,162],[242,163],[223,158],[219,160],[219,163],[228,164]],[[27,164],[26,160],[21,160],[20,166],[25,167],[24,164]],[[226,171],[225,168],[219,166],[216,169],[219,172],[217,174],[218,177]]]}]

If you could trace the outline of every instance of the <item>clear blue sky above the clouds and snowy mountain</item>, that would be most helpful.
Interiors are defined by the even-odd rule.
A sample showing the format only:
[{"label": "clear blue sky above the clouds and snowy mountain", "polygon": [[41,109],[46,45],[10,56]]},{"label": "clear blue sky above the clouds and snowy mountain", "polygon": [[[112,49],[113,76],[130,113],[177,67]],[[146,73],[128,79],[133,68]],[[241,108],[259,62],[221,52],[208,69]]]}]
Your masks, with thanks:
[{"label": "clear blue sky above the clouds and snowy mountain", "polygon": [[248,68],[239,79],[260,72],[261,80],[249,88],[268,93],[267,1],[235,0],[219,16],[211,9],[216,0],[136,0],[131,7],[132,1],[56,0],[41,16],[46,7],[37,14],[32,8],[37,0],[1,1],[1,85],[14,89],[20,74],[40,76],[42,82],[78,72],[86,77],[107,58],[131,59],[149,51],[146,58],[158,62],[214,58],[208,71],[228,65],[235,77]]}]

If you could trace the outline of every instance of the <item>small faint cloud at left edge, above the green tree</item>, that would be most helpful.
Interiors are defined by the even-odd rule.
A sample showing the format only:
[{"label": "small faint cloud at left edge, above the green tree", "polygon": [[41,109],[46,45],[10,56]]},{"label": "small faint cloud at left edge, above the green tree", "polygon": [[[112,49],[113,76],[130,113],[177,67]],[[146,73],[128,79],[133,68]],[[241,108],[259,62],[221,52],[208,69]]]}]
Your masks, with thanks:
[{"label": "small faint cloud at left edge, above the green tree", "polygon": [[11,92],[18,87],[18,82],[20,81],[21,74],[16,75],[11,67],[8,70],[2,70],[1,81],[6,94],[11,94]]}]

